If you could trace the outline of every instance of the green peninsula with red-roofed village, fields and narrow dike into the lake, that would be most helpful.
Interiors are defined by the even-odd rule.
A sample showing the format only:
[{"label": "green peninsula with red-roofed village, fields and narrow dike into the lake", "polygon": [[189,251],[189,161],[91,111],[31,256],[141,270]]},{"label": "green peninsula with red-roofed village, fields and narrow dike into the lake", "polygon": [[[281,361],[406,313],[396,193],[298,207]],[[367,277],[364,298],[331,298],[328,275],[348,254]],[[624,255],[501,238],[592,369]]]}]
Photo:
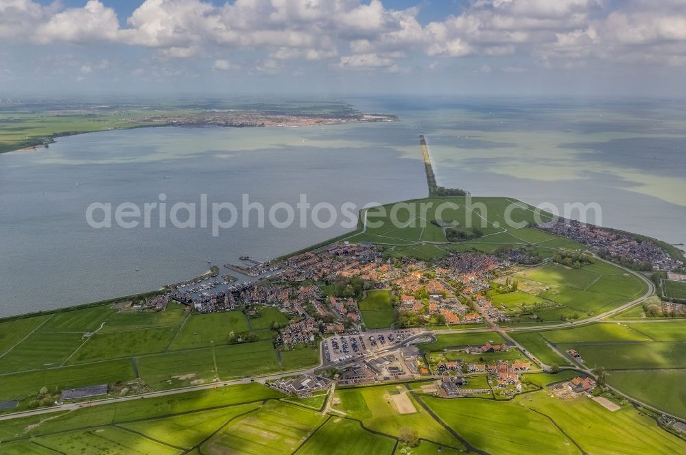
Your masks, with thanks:
[{"label": "green peninsula with red-roofed village, fields and narrow dike into the lake", "polygon": [[[253,282],[214,267],[0,321],[0,452],[685,452],[683,254],[439,187],[420,145],[429,194],[396,203],[403,227],[367,208],[224,266]],[[412,223],[428,203],[456,208]]]}]

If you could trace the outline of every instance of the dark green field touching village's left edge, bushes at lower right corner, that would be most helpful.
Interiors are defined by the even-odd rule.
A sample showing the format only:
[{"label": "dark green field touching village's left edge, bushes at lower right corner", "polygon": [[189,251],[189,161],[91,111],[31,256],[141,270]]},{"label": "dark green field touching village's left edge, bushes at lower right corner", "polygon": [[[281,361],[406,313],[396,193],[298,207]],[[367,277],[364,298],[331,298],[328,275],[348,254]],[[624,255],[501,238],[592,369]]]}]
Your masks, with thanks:
[{"label": "dark green field touching village's left edge, bushes at lower right corner", "polygon": [[174,338],[169,349],[187,349],[226,344],[230,332],[248,331],[242,311],[191,315]]}]

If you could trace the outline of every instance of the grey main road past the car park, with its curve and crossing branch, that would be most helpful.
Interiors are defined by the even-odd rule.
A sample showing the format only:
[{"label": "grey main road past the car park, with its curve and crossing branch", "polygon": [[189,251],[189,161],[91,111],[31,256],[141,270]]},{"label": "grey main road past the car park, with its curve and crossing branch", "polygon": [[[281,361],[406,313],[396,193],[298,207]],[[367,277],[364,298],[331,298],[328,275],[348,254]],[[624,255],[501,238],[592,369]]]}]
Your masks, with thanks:
[{"label": "grey main road past the car park, with its curve and crossing branch", "polygon": [[[600,258],[598,258],[598,259],[602,260],[604,262],[608,262],[609,264],[617,265],[617,264],[614,264],[613,262],[609,262],[609,261],[604,260],[604,259],[600,259]],[[521,349],[521,352],[523,352],[528,358],[530,358],[530,360],[532,360],[532,362],[534,362],[534,364],[541,367],[541,369],[549,370],[549,368],[550,368],[549,365],[543,364],[538,359],[536,359],[534,356],[532,356],[532,354],[530,352],[528,352],[527,349],[525,349],[522,345],[517,343],[517,341],[514,341],[514,339],[512,339],[512,337],[510,337],[508,335],[508,332],[569,328],[569,327],[576,327],[578,325],[585,325],[585,324],[589,324],[589,323],[593,323],[593,322],[598,322],[601,319],[616,315],[619,312],[622,312],[622,311],[624,311],[624,310],[626,310],[626,309],[628,309],[628,308],[630,308],[636,304],[639,304],[640,302],[643,302],[644,299],[646,299],[647,297],[650,297],[650,295],[652,295],[654,293],[655,286],[646,277],[644,277],[640,273],[637,273],[637,272],[632,271],[630,269],[626,269],[622,266],[617,265],[617,267],[621,267],[625,271],[628,271],[629,273],[632,273],[632,274],[636,275],[637,277],[639,277],[641,280],[643,280],[643,282],[646,282],[646,284],[648,284],[648,291],[646,291],[646,293],[643,294],[641,297],[637,297],[636,299],[633,299],[631,302],[628,302],[622,306],[614,308],[613,310],[609,310],[609,311],[604,312],[600,315],[593,316],[593,317],[590,317],[587,319],[581,319],[580,321],[573,321],[573,322],[567,323],[567,324],[536,325],[534,327],[522,327],[522,328],[503,328],[503,327],[500,327],[499,325],[497,325],[496,323],[494,323],[493,321],[490,321],[490,319],[486,319],[486,321],[488,321],[488,324],[489,324],[489,326],[487,328],[475,328],[475,329],[464,329],[464,330],[446,329],[446,330],[434,330],[432,332],[421,332],[419,334],[408,337],[407,339],[403,340],[402,343],[399,343],[397,345],[391,345],[386,349],[381,349],[380,351],[375,352],[374,357],[379,356],[381,354],[385,354],[387,352],[391,352],[395,349],[398,349],[399,347],[405,347],[405,346],[409,345],[411,341],[416,341],[416,339],[419,339],[423,336],[426,336],[427,334],[429,336],[434,336],[435,334],[493,332],[495,330],[495,331],[499,332],[500,334],[502,334],[504,336],[504,338],[508,339],[508,341],[510,341],[510,343],[514,344],[515,346],[517,346],[517,348]],[[480,311],[482,311],[482,310],[480,309]],[[482,314],[484,315],[484,317],[486,317],[486,315],[483,311],[482,311]],[[113,397],[113,398],[95,399],[95,400],[91,400],[88,402],[61,404],[58,406],[53,406],[51,408],[40,408],[40,409],[34,409],[34,410],[26,410],[26,411],[22,411],[19,413],[10,413],[10,414],[5,414],[5,415],[0,415],[0,421],[9,420],[9,419],[17,419],[19,417],[29,417],[29,416],[35,416],[35,415],[57,413],[60,411],[65,411],[65,410],[71,411],[71,410],[76,410],[79,408],[84,408],[86,406],[99,406],[102,404],[113,404],[113,403],[128,402],[128,401],[131,401],[134,399],[145,399],[145,398],[154,398],[154,397],[164,397],[167,395],[177,395],[178,393],[187,393],[187,392],[192,392],[192,391],[215,389],[217,387],[232,386],[232,385],[236,385],[236,384],[248,384],[250,382],[264,383],[267,380],[279,379],[279,378],[283,378],[285,376],[292,376],[296,373],[311,374],[311,373],[314,373],[314,371],[321,369],[322,367],[325,367],[325,366],[340,367],[342,365],[347,365],[348,363],[356,362],[359,360],[359,358],[352,358],[350,360],[347,360],[346,362],[340,362],[340,363],[335,364],[335,365],[332,365],[332,364],[325,365],[324,359],[322,358],[322,356],[323,356],[322,353],[323,353],[323,349],[320,349],[320,364],[317,365],[316,367],[311,367],[308,369],[284,371],[282,373],[277,373],[277,374],[268,375],[268,376],[259,376],[259,377],[254,377],[254,378],[241,378],[241,379],[237,379],[237,380],[213,382],[212,384],[202,384],[202,385],[198,385],[198,386],[189,386],[189,387],[183,387],[180,389],[170,389],[167,391],[141,393],[139,395],[128,395],[125,397]],[[563,358],[565,358],[565,356],[563,356]],[[583,371],[587,375],[595,378],[595,375],[593,374],[593,372],[590,371],[589,369],[587,369],[585,366],[580,366],[578,369],[580,371]],[[655,410],[659,413],[663,413],[663,411],[661,411],[661,410],[657,410],[655,408],[652,408],[652,406],[649,406],[648,404],[643,404],[641,402],[638,402],[636,399],[628,397],[628,395],[625,395],[624,393],[619,392],[616,389],[613,389],[612,387],[610,387],[610,388],[613,391],[615,391],[618,395],[622,395],[622,396],[630,399],[632,402],[640,404],[641,406],[643,406],[645,408]],[[667,415],[670,415],[670,414],[667,414]],[[678,420],[683,420],[683,419],[680,419],[679,417],[672,416],[672,415],[670,415],[670,417],[673,417],[674,419],[678,419]]]}]

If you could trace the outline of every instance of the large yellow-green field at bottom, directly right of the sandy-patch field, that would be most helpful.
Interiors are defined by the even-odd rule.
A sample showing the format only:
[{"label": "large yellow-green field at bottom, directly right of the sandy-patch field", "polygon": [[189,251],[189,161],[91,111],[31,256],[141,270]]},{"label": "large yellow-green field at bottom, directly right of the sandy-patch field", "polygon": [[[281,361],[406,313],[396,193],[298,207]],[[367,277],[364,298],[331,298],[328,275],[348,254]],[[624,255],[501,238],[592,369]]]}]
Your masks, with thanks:
[{"label": "large yellow-green field at bottom, directly right of the sandy-patch field", "polygon": [[[529,394],[528,394],[529,395]],[[513,402],[423,398],[438,417],[471,445],[493,454],[578,454],[546,417]]]}]

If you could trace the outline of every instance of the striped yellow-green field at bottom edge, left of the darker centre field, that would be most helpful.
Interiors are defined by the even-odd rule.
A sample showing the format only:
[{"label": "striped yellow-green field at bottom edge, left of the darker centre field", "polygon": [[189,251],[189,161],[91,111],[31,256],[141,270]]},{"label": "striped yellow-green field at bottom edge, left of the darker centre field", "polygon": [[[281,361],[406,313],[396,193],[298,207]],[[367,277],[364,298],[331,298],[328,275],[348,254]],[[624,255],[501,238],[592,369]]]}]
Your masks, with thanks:
[{"label": "striped yellow-green field at bottom edge, left of the darker centre field", "polygon": [[222,428],[201,450],[210,454],[291,454],[325,420],[311,410],[268,402]]}]

